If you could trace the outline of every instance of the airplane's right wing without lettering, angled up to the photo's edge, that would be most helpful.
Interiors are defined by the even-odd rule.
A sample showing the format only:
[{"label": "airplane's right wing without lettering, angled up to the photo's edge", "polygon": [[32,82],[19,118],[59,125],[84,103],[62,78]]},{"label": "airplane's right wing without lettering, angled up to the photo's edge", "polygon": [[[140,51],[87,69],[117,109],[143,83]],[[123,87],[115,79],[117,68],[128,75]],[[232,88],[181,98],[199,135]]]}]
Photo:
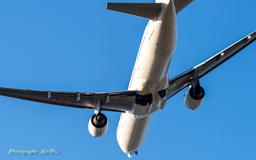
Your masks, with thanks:
[{"label": "airplane's right wing without lettering, angled up to the photo's edge", "polygon": [[[187,70],[186,72],[172,78],[169,80],[169,87],[167,91],[166,100],[188,87],[191,82],[198,76],[198,78],[202,78],[210,71],[214,70],[222,63],[226,62],[228,59],[236,55],[238,52],[243,50],[245,47],[250,45],[253,41],[256,40],[256,30],[249,34],[248,36],[242,38],[236,43],[232,44],[228,48],[220,51],[216,55],[207,59],[206,61],[200,63],[199,65]],[[197,71],[197,72],[195,72]],[[193,73],[195,72],[195,73]],[[196,75],[198,73],[198,75]]]}]

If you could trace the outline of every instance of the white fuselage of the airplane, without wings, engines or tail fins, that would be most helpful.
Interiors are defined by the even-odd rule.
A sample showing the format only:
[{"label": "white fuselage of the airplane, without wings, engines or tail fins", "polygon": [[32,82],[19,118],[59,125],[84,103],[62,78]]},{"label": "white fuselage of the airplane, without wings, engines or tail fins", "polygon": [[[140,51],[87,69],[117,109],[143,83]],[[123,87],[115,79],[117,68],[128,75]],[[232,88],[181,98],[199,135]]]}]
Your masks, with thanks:
[{"label": "white fuselage of the airplane, without wings, engines or tail fins", "polygon": [[[177,19],[173,1],[165,0],[158,19],[150,20],[144,31],[128,90],[140,95],[157,92],[169,84],[168,69],[177,45]],[[134,153],[145,142],[154,113],[159,110],[154,100],[149,106],[135,104],[132,111],[122,113],[116,132],[124,153]]]}]

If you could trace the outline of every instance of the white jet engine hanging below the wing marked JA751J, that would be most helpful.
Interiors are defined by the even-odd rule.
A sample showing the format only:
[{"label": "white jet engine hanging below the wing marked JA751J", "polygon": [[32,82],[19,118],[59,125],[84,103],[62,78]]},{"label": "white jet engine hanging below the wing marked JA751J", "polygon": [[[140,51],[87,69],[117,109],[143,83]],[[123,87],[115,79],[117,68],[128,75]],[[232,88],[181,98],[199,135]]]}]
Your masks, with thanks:
[{"label": "white jet engine hanging below the wing marked JA751J", "polygon": [[103,136],[108,129],[108,120],[100,111],[89,120],[88,130],[94,137]]}]

